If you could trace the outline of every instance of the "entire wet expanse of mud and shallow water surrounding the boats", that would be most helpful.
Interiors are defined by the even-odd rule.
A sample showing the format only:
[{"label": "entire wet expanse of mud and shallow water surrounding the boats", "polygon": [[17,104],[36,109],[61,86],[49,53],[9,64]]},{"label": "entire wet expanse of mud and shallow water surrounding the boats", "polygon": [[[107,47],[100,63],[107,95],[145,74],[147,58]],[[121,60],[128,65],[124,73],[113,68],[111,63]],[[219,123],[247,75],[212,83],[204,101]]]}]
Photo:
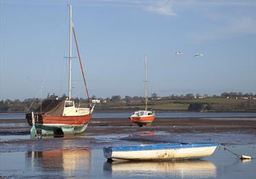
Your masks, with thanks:
[{"label": "entire wet expanse of mud and shallow water surrounding the boats", "polygon": [[[156,118],[138,128],[127,118],[93,118],[85,132],[30,139],[25,119],[0,119],[0,178],[255,178],[253,118]],[[103,147],[144,143],[220,143],[205,160],[109,163]]]}]

